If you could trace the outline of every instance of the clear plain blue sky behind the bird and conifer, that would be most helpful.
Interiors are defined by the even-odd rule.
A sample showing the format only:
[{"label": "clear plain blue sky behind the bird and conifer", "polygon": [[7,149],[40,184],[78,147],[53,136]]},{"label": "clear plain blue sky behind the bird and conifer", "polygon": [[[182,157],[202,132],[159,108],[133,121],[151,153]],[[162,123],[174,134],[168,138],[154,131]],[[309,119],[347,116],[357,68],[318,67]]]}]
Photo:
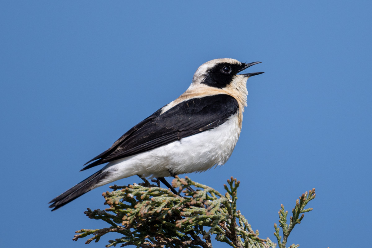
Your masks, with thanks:
[{"label": "clear plain blue sky behind the bird and conifer", "polygon": [[[93,174],[83,164],[176,99],[206,61],[261,61],[230,160],[194,181],[223,192],[260,237],[280,204],[315,187],[289,236],[301,248],[362,247],[371,236],[371,1],[1,1],[0,247],[86,246],[103,228],[103,186],[55,212]],[[116,184],[140,183],[137,177]],[[367,242],[368,243],[368,242]],[[228,247],[212,240],[215,248]]]}]

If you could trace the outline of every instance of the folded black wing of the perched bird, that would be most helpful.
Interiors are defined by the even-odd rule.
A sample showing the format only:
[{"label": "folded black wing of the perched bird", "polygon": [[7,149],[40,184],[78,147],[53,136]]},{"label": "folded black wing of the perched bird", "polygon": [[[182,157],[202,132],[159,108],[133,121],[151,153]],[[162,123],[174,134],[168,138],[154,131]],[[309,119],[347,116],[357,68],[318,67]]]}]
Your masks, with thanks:
[{"label": "folded black wing of the perched bird", "polygon": [[131,128],[109,149],[87,162],[96,160],[83,170],[215,128],[237,110],[237,100],[227,94],[193,98],[177,104],[162,115],[159,109]]}]

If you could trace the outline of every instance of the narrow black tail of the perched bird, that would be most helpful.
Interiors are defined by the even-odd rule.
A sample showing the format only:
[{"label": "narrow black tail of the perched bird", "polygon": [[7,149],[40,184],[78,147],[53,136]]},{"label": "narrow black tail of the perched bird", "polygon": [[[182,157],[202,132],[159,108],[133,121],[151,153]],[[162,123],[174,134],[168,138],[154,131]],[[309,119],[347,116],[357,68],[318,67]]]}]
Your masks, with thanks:
[{"label": "narrow black tail of the perched bird", "polygon": [[72,200],[76,199],[79,196],[87,193],[88,191],[94,189],[95,185],[105,178],[108,174],[108,171],[97,171],[87,179],[81,181],[80,183],[76,184],[71,189],[65,191],[64,193],[60,194],[59,196],[55,197],[49,203],[52,203],[49,207],[54,207],[52,211],[59,209],[60,207],[64,206],[65,204],[71,202]]}]

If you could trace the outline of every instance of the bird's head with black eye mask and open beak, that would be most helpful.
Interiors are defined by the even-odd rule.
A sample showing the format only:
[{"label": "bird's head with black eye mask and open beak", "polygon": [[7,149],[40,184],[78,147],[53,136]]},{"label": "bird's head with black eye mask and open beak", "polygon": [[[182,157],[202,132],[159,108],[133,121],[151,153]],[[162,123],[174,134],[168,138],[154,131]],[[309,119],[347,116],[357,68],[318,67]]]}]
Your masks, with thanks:
[{"label": "bird's head with black eye mask and open beak", "polygon": [[247,78],[260,73],[238,74],[248,67],[259,64],[261,62],[242,63],[236,59],[223,58],[213,59],[202,64],[196,70],[192,84],[205,84],[215,88],[225,87],[246,87]]}]

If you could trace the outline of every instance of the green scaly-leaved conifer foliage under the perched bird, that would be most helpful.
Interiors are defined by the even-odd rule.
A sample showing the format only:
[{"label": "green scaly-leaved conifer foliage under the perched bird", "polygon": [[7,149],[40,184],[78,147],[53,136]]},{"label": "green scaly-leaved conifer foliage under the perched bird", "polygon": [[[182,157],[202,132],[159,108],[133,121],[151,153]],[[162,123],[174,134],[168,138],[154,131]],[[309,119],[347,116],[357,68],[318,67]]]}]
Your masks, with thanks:
[{"label": "green scaly-leaved conifer foliage under the perched bird", "polygon": [[[212,248],[210,235],[214,233],[217,241],[235,248],[276,247],[269,238],[259,238],[258,230],[253,231],[246,218],[237,210],[240,181],[232,177],[227,180],[227,184],[224,184],[227,191],[225,195],[188,177],[176,177],[172,181],[174,188],[179,187],[178,195],[144,181],[140,185],[110,186],[114,191],[103,193],[105,204],[109,208],[93,211],[87,209],[84,212],[91,219],[102,219],[109,223],[110,227],[81,229],[76,232],[78,234],[73,240],[93,235],[86,241],[89,244],[93,240],[98,242],[106,233],[116,232],[122,238],[110,240],[106,247],[121,244],[121,247],[135,245],[142,248]],[[196,191],[187,189],[189,186],[196,188]],[[185,197],[181,197],[180,193],[185,194]],[[314,197],[314,191],[309,191],[309,194],[303,194],[297,200],[289,226],[286,225],[288,212],[282,206],[279,211],[279,226],[283,228],[283,242],[280,242],[279,228],[275,224],[275,236],[280,237],[280,248],[285,248],[289,233],[303,218],[299,214],[311,210],[304,207]]]}]

